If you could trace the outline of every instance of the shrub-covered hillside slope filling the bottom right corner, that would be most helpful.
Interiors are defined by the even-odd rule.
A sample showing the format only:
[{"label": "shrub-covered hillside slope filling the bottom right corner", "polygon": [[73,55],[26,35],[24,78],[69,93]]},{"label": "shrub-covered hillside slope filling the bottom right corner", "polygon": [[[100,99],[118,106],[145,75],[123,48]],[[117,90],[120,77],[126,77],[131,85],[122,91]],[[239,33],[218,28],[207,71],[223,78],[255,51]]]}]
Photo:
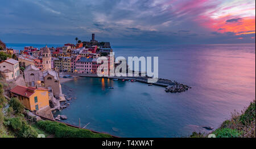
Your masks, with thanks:
[{"label": "shrub-covered hillside slope filling the bottom right corner", "polygon": [[[224,121],[211,134],[215,134],[217,138],[255,138],[255,100],[242,111],[242,114],[236,111],[232,113],[232,118]],[[191,137],[204,138],[207,136],[193,132]]]}]

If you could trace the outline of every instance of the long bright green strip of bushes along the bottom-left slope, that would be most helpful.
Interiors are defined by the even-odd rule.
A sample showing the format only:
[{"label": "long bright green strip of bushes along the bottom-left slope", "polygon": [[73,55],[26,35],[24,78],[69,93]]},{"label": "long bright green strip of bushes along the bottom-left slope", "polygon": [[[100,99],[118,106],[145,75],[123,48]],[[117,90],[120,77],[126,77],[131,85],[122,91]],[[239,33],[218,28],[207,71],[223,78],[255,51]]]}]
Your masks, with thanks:
[{"label": "long bright green strip of bushes along the bottom-left slope", "polygon": [[49,134],[55,135],[56,138],[110,138],[108,134],[96,134],[85,129],[70,127],[59,122],[39,121],[37,123],[40,129]]}]

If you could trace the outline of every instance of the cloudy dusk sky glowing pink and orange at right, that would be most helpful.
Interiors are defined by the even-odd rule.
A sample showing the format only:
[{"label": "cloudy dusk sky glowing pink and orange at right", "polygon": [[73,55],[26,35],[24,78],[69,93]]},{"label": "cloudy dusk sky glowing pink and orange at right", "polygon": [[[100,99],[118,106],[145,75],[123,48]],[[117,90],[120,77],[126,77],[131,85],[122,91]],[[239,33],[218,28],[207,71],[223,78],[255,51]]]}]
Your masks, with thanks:
[{"label": "cloudy dusk sky glowing pink and orange at right", "polygon": [[255,43],[255,0],[0,0],[0,39],[112,45]]}]

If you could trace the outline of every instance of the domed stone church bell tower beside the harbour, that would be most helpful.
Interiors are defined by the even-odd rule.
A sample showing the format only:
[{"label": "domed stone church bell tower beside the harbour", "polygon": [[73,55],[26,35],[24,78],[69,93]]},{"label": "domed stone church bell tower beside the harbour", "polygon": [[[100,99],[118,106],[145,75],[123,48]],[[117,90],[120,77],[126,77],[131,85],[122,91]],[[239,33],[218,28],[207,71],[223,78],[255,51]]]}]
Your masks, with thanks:
[{"label": "domed stone church bell tower beside the harbour", "polygon": [[51,51],[49,48],[44,47],[43,52],[42,52],[42,59],[43,59],[43,70],[51,70],[52,69],[52,56],[51,56]]}]

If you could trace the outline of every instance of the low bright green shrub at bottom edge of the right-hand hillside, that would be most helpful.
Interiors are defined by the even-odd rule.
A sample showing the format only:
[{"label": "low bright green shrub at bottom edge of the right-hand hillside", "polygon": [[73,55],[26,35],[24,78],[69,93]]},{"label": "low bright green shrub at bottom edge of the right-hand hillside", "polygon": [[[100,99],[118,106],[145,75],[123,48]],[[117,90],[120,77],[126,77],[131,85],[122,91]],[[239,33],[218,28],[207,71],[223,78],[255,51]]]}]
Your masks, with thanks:
[{"label": "low bright green shrub at bottom edge of the right-hand hillside", "polygon": [[236,129],[217,129],[213,132],[217,138],[238,138],[241,136],[241,133]]}]

